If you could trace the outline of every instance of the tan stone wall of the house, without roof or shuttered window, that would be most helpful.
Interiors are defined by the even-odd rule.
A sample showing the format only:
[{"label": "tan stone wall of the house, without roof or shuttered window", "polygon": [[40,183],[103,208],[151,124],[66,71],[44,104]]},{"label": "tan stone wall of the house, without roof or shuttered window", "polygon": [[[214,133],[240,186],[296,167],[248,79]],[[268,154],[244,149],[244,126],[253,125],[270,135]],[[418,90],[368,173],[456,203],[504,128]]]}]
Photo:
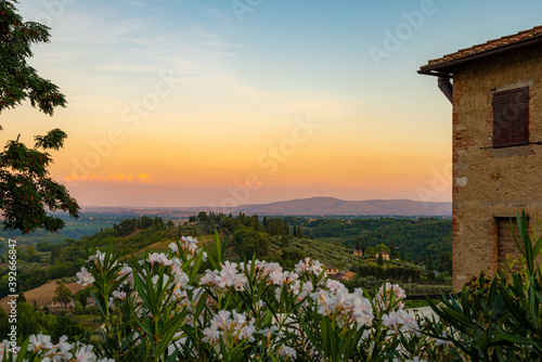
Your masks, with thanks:
[{"label": "tan stone wall of the house, without roof or shuttered window", "polygon": [[[493,92],[526,86],[530,144],[493,148]],[[542,210],[542,46],[455,68],[452,122],[453,284],[461,289],[480,271],[496,271],[495,218],[525,209],[535,227]]]}]

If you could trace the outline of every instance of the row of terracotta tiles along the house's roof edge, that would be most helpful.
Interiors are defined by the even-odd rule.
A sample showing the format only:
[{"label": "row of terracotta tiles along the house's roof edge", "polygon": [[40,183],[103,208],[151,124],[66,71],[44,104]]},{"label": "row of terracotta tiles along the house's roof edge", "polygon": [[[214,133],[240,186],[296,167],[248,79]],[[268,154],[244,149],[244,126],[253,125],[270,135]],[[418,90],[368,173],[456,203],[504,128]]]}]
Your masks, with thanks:
[{"label": "row of terracotta tiles along the house's roof edge", "polygon": [[542,25],[535,26],[529,30],[519,31],[518,34],[489,40],[485,43],[477,44],[470,48],[461,49],[455,53],[451,53],[442,57],[429,61],[426,65],[422,66],[421,69],[423,70],[425,68],[440,66],[440,65],[446,66],[447,63],[450,63],[452,61],[457,61],[472,55],[490,52],[499,48],[504,48],[514,43],[519,43],[521,41],[531,40],[534,38],[542,38]]}]

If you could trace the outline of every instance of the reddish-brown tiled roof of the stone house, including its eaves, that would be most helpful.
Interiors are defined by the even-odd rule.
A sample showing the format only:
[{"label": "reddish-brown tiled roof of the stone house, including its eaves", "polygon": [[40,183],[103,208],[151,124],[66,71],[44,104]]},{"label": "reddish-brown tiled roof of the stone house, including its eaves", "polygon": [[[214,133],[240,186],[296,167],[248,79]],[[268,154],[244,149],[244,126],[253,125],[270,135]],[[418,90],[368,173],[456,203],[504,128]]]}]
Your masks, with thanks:
[{"label": "reddish-brown tiled roof of the stone house, including its eaves", "polygon": [[533,27],[529,30],[519,31],[515,35],[489,40],[482,44],[462,49],[455,53],[431,60],[418,70],[421,74],[436,74],[438,72],[452,73],[453,66],[466,63],[481,56],[490,56],[496,52],[509,51],[518,47],[542,41],[542,26]]}]

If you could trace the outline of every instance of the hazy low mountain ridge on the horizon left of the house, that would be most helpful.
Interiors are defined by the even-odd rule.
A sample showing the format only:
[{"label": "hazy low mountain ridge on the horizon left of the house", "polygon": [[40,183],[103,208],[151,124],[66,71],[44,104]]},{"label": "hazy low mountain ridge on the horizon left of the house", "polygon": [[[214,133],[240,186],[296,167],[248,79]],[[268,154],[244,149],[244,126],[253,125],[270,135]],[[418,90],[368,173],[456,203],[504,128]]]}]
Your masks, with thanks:
[{"label": "hazy low mountain ridge on the horizon left of the house", "polygon": [[335,197],[310,197],[228,208],[190,207],[189,209],[249,215],[451,216],[452,203],[424,203],[411,199],[365,199],[356,202]]}]

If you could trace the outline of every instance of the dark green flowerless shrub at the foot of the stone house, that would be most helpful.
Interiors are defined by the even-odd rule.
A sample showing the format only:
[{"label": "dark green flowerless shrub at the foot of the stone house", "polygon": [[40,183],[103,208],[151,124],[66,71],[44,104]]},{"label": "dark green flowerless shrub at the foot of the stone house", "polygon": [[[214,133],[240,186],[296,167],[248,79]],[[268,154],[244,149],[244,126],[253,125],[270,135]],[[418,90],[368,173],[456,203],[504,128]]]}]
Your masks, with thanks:
[{"label": "dark green flowerless shrub at the foot of the stone house", "polygon": [[517,216],[517,224],[520,238],[514,238],[521,251],[519,268],[509,267],[492,277],[482,271],[463,287],[459,300],[446,298],[441,305],[430,301],[441,321],[451,326],[447,339],[457,358],[542,359],[542,272],[537,261],[542,237],[529,231],[525,211]]}]

